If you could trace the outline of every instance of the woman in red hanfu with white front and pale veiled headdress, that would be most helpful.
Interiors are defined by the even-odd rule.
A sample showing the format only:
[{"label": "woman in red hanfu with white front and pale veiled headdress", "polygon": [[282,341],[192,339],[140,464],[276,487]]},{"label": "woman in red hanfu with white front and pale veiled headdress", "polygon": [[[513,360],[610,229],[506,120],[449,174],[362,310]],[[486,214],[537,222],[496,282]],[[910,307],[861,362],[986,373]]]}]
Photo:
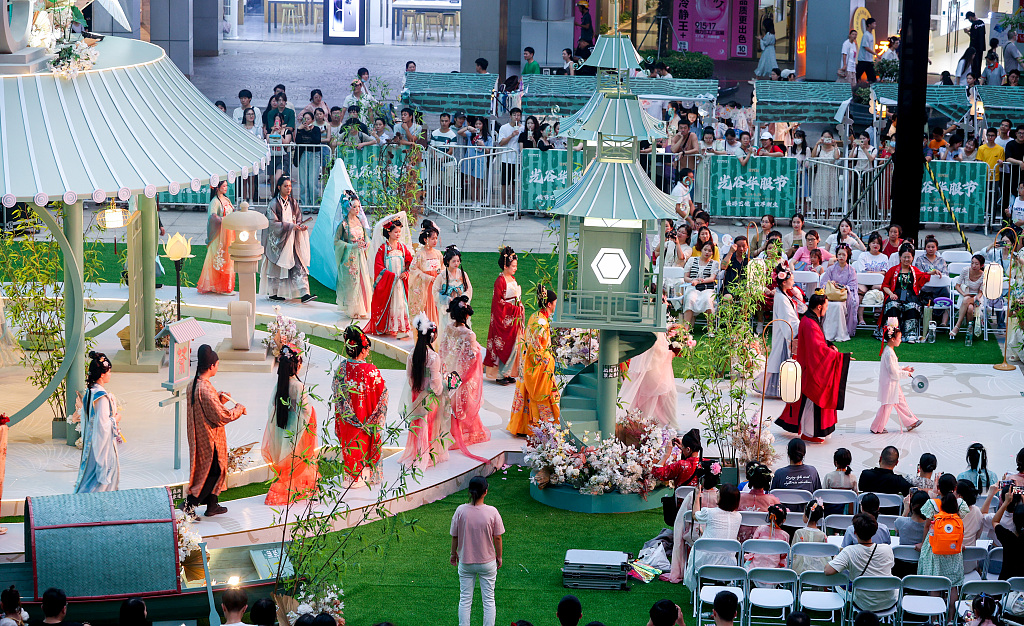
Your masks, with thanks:
[{"label": "woman in red hanfu with white front and pale veiled headdress", "polygon": [[[413,253],[401,243],[404,229],[400,219],[380,224],[384,243],[374,259],[374,297],[370,305],[370,324],[366,331],[373,335],[393,335],[403,339],[410,335],[409,266]],[[375,228],[377,231],[377,228]],[[377,239],[377,233],[374,239]]]}]

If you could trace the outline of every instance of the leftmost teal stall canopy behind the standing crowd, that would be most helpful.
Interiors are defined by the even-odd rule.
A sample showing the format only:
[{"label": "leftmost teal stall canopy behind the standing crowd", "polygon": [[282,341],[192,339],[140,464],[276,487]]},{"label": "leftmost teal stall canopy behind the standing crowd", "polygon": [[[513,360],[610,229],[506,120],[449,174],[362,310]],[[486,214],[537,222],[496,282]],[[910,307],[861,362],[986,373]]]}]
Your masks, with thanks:
[{"label": "leftmost teal stall canopy behind the standing crowd", "polygon": [[422,113],[489,116],[497,74],[408,72],[401,103]]}]

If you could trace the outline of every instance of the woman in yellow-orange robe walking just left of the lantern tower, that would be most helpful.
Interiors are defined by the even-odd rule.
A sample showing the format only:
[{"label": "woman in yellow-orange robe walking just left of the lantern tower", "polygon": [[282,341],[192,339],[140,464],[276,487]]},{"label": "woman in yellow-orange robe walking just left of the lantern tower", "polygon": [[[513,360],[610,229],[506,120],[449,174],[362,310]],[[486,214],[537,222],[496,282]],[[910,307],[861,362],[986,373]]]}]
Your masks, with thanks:
[{"label": "woman in yellow-orange robe walking just left of the lantern tower", "polygon": [[542,420],[558,421],[555,356],[551,351],[551,316],[558,296],[544,285],[537,288],[537,312],[526,324],[522,378],[515,386],[509,432],[529,434]]}]

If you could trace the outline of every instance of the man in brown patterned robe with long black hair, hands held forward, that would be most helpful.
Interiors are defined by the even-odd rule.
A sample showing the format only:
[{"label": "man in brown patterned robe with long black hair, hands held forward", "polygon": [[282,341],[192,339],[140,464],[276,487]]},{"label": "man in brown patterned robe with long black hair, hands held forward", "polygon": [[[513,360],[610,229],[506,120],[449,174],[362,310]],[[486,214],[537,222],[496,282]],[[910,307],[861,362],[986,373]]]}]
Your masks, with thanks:
[{"label": "man in brown patterned robe with long black hair, hands held forward", "polygon": [[[213,361],[211,364],[210,361]],[[196,379],[188,385],[188,412],[185,421],[188,433],[188,493],[182,510],[196,517],[196,507],[206,505],[205,515],[212,517],[227,512],[217,502],[227,485],[227,436],[224,425],[246,414],[246,408],[231,402],[226,393],[213,388],[210,378],[217,373],[217,353],[209,345],[200,346]],[[205,371],[204,371],[205,369]]]}]

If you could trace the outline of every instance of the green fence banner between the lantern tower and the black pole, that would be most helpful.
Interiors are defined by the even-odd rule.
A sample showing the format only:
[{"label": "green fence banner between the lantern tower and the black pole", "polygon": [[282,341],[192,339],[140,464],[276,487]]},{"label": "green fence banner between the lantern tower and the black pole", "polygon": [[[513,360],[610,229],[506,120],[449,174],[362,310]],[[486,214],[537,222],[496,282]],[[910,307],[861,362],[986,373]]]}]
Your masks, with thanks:
[{"label": "green fence banner between the lantern tower and the black pole", "polygon": [[797,203],[796,159],[712,157],[709,196],[714,215],[787,217]]}]

